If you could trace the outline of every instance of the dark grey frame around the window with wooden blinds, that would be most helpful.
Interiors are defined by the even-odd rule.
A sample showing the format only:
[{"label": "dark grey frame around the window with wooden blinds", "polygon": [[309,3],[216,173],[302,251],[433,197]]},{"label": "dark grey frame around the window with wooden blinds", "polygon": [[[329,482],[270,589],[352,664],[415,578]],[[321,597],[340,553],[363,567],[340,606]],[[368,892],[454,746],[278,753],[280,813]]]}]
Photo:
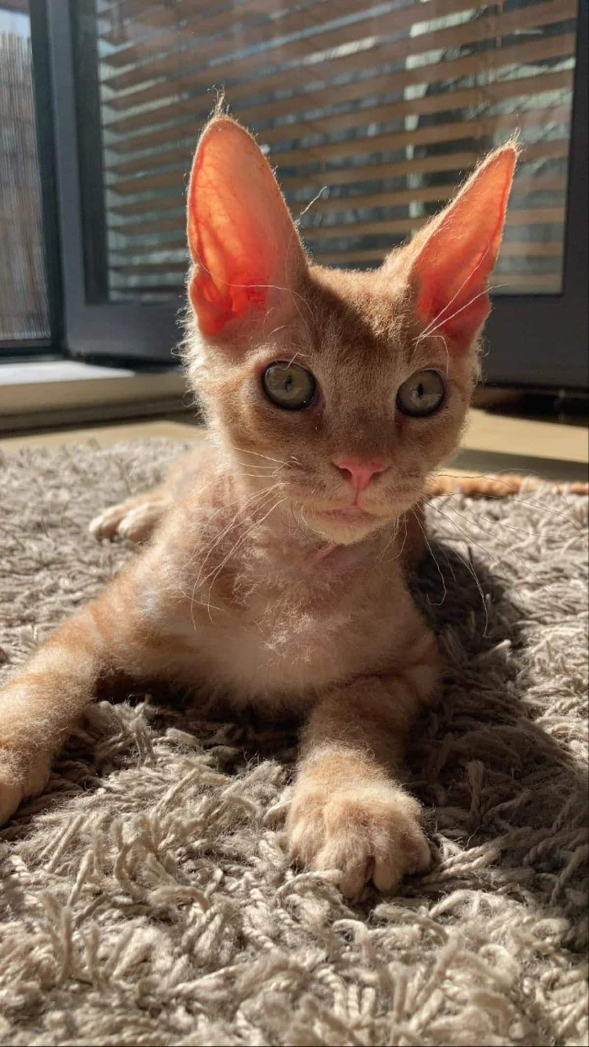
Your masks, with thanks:
[{"label": "dark grey frame around the window with wooden blinds", "polygon": [[[183,303],[109,303],[95,259],[104,248],[101,143],[77,114],[97,106],[86,0],[31,0],[46,17],[51,58],[57,196],[63,280],[63,344],[72,356],[171,364]],[[563,291],[497,297],[486,327],[484,378],[490,384],[585,391],[587,361],[587,0],[581,0],[569,162]],[[88,20],[90,22],[90,20]],[[42,30],[42,20],[38,20]],[[82,40],[82,45],[80,44]],[[82,46],[81,55],[77,48]],[[81,62],[80,60],[83,59]],[[81,77],[84,77],[81,85]],[[94,77],[94,79],[92,79]],[[92,92],[94,101],[92,102]],[[95,127],[99,127],[96,120]],[[90,161],[84,164],[84,160]],[[88,171],[92,171],[91,182]],[[84,172],[84,177],[82,177]],[[86,201],[84,201],[86,195]],[[83,202],[86,206],[83,207]],[[101,224],[102,223],[102,224]],[[101,241],[101,237],[103,238]],[[100,269],[100,267],[99,267]]]}]

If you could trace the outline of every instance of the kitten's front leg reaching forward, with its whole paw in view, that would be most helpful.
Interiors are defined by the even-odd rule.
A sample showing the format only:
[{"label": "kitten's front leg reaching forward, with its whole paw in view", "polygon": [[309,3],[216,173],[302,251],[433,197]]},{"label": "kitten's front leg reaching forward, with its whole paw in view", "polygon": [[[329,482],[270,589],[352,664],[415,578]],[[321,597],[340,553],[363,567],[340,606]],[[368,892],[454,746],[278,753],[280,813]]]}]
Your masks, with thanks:
[{"label": "kitten's front leg reaching forward, with its whole paw in view", "polygon": [[356,898],[372,879],[393,890],[430,864],[420,806],[399,781],[411,723],[435,693],[438,653],[423,632],[394,675],[366,676],[326,693],[304,733],[286,823],[293,860],[337,869]]}]

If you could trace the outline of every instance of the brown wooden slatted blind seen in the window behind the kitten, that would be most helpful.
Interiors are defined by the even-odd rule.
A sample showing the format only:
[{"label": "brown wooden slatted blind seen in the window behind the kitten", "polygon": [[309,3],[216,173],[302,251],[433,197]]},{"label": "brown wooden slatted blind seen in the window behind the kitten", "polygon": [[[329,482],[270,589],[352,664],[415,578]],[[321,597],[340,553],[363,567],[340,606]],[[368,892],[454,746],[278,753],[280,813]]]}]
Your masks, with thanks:
[{"label": "brown wooden slatted blind seen in the window behind the kitten", "polygon": [[178,293],[187,175],[221,89],[331,265],[378,265],[518,130],[494,284],[558,292],[576,3],[96,0],[111,297]]}]

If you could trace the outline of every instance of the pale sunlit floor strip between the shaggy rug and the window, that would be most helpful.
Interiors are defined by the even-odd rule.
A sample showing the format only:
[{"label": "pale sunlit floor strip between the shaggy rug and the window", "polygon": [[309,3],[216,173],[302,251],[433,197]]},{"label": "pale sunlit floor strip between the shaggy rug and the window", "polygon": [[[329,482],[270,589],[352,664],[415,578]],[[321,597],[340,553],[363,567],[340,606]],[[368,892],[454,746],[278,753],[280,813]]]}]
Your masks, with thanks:
[{"label": "pale sunlit floor strip between the shaggy rug and the window", "polygon": [[[119,440],[143,437],[200,439],[202,430],[190,416],[133,420],[116,424],[68,428],[31,435],[18,433],[0,439],[0,450],[23,446],[61,445],[80,440],[97,440],[103,446]],[[456,474],[524,472],[547,480],[586,481],[588,462],[587,429],[560,421],[514,417],[496,410],[473,408],[460,449],[453,454],[446,471]]]}]

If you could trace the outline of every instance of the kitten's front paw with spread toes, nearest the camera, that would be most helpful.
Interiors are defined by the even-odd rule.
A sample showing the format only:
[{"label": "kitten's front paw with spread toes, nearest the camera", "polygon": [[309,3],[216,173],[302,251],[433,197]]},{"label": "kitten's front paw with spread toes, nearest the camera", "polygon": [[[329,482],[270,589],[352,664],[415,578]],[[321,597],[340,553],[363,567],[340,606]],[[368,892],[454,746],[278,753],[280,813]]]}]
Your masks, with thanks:
[{"label": "kitten's front paw with spread toes, nearest the camera", "polygon": [[293,861],[341,870],[340,888],[350,899],[369,879],[392,891],[405,873],[430,865],[421,808],[392,782],[351,782],[331,792],[296,786],[286,832]]}]

